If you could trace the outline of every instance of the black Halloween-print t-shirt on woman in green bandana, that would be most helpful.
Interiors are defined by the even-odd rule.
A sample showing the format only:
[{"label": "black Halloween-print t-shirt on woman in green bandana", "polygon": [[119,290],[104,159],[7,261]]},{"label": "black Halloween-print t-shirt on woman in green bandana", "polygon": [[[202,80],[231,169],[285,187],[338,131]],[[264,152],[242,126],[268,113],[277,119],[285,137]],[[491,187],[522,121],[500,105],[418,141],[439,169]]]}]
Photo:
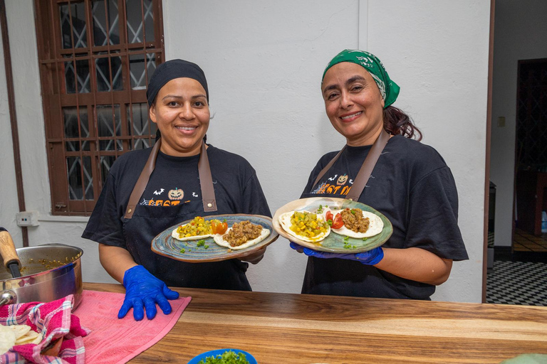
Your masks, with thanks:
[{"label": "black Halloween-print t-shirt on woman in green bandana", "polygon": [[[301,198],[345,198],[371,146],[348,146],[317,185],[337,152],[325,154]],[[419,247],[444,259],[469,259],[457,225],[458,197],[448,166],[432,147],[402,136],[387,142],[359,202],[384,214],[393,234],[383,247]],[[347,259],[308,258],[302,293],[429,299],[432,284],[403,279]]]}]

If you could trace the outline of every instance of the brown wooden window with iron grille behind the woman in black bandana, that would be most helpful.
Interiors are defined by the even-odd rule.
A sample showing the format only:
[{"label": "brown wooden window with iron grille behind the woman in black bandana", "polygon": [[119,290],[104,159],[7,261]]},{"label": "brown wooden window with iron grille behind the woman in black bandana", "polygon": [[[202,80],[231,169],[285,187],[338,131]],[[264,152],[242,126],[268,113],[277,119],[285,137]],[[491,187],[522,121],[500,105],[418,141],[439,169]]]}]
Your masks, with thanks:
[{"label": "brown wooden window with iron grille behind the woman in black bandana", "polygon": [[90,215],[110,166],[152,146],[146,88],[165,58],[161,0],[36,0],[54,215]]}]

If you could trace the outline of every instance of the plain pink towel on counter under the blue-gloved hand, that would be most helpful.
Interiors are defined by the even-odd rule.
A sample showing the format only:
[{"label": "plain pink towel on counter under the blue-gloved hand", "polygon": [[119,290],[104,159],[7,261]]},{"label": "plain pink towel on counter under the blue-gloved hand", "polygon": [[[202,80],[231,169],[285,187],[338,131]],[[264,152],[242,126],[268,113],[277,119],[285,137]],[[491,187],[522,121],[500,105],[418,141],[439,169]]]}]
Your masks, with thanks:
[{"label": "plain pink towel on counter under the blue-gloved hand", "polygon": [[83,299],[73,314],[91,333],[83,338],[85,363],[127,363],[154,345],[173,328],[192,297],[169,301],[172,312],[164,315],[158,309],[155,319],[135,321],[132,310],[118,319],[125,294],[83,291]]}]

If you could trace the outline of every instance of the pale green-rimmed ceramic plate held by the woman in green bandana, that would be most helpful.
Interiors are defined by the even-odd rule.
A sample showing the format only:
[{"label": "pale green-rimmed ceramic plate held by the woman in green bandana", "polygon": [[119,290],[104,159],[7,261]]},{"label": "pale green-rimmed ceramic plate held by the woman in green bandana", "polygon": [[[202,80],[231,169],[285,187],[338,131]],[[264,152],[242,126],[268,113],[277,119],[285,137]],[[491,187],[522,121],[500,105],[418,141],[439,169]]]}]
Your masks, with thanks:
[{"label": "pale green-rimmed ceramic plate held by the woman in green bandana", "polygon": [[[384,223],[384,228],[382,229],[382,232],[380,234],[375,235],[373,237],[368,237],[367,240],[363,239],[355,239],[353,237],[350,237],[348,240],[348,245],[352,246],[351,249],[347,249],[344,247],[345,245],[345,236],[344,235],[338,235],[332,230],[330,231],[330,234],[325,237],[325,239],[321,240],[321,242],[305,242],[300,239],[296,239],[296,237],[293,237],[292,235],[288,235],[288,233],[281,228],[281,224],[279,223],[279,216],[283,213],[288,213],[289,211],[310,211],[311,213],[316,213],[319,209],[319,205],[325,207],[328,206],[330,210],[336,210],[336,209],[342,209],[342,208],[360,208],[363,211],[369,211],[370,213],[375,213],[376,215],[380,216]],[[286,237],[291,242],[296,242],[299,245],[302,245],[303,247],[309,247],[313,250],[319,250],[321,252],[336,252],[336,253],[357,253],[357,252],[367,252],[368,250],[372,250],[375,247],[379,247],[384,242],[387,241],[387,239],[390,238],[393,227],[390,223],[390,220],[387,220],[387,218],[382,214],[379,213],[377,210],[371,208],[369,205],[365,205],[364,203],[355,202],[352,200],[345,200],[344,198],[325,198],[325,197],[313,197],[313,198],[301,198],[300,200],[294,200],[290,203],[287,203],[283,207],[279,208],[275,215],[273,215],[273,228],[281,235],[282,237]],[[346,245],[347,246],[347,245]],[[353,248],[355,247],[355,248]]]}]

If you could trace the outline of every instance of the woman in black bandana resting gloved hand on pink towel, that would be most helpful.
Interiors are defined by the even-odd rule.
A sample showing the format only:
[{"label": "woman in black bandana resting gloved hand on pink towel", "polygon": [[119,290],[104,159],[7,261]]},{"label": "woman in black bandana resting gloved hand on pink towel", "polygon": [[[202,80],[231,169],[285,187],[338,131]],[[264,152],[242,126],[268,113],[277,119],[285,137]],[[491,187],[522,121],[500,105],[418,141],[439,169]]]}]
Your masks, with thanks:
[{"label": "woman in black bandana resting gloved hand on pink towel", "polygon": [[185,60],[162,63],[152,75],[147,98],[161,138],[155,150],[131,151],[115,161],[82,235],[99,243],[101,264],[125,286],[118,317],[132,308],[136,320],[144,311],[153,319],[156,304],[170,313],[167,300],[178,294],[167,286],[249,291],[246,262],[256,264],[264,256],[261,250],[244,257],[245,262],[179,262],[152,252],[150,242],[157,234],[196,216],[271,216],[251,165],[204,143],[209,92],[198,65]]}]

